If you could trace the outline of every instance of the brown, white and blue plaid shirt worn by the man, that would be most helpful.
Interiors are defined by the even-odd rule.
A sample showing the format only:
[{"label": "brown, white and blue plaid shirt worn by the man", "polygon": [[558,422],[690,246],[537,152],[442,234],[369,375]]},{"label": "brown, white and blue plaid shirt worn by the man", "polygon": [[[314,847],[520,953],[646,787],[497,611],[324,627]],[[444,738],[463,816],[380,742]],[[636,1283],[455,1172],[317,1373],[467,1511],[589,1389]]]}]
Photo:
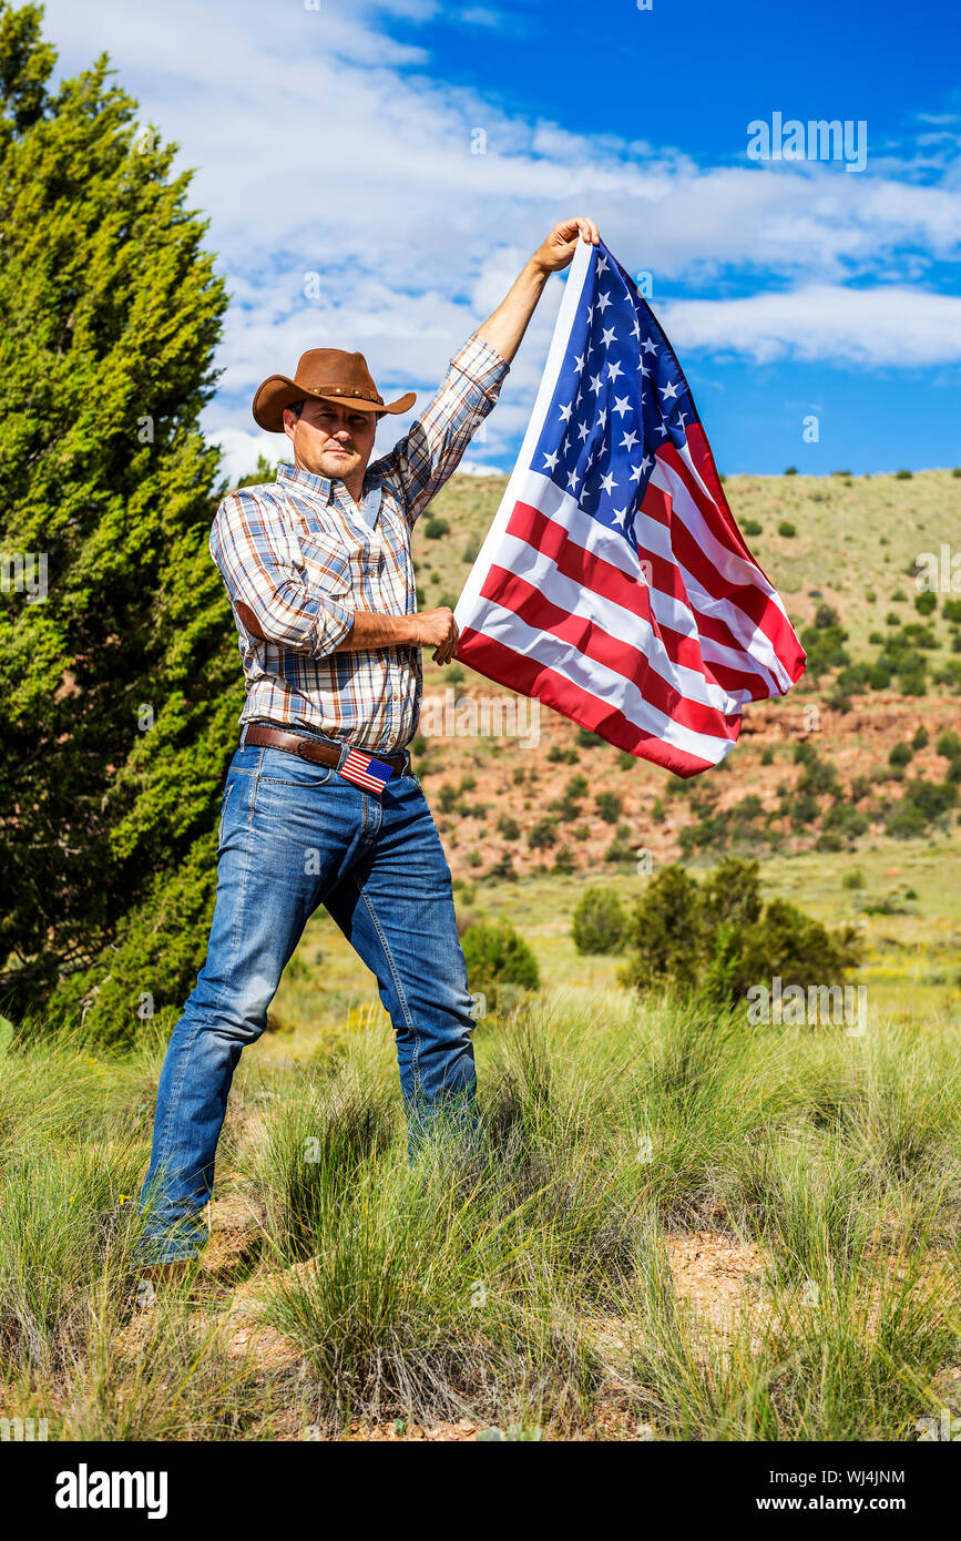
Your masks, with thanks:
[{"label": "brown, white and blue plaid shirt worn by the man", "polygon": [[[360,507],[342,481],[280,465],[276,482],[229,493],[214,518],[240,640],[240,723],[326,734],[368,754],[402,749],[420,715],[420,649],[334,653],[354,610],[417,609],[410,535],[497,401],[508,365],[473,336],[410,433],[363,478]],[[237,615],[246,606],[263,640]]]}]

